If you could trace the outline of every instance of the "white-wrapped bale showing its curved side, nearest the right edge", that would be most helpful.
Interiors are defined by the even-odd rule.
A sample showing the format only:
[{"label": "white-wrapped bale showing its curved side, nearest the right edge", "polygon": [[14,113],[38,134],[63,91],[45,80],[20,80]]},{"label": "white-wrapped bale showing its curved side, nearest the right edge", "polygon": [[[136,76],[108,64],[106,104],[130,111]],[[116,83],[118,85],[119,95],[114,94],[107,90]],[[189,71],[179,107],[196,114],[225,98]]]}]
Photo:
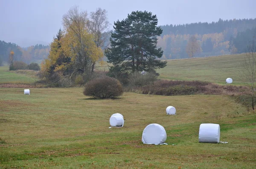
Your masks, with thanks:
[{"label": "white-wrapped bale showing its curved side, nearest the right edge", "polygon": [[219,124],[204,123],[199,127],[200,143],[218,143],[220,142],[221,128]]}]

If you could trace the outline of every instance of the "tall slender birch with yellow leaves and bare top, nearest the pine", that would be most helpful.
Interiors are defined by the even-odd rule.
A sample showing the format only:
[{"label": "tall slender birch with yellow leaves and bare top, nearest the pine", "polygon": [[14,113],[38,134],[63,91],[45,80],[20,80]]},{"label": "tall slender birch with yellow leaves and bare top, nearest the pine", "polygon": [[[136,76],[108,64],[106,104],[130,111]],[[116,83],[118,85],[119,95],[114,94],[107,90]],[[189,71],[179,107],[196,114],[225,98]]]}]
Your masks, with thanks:
[{"label": "tall slender birch with yellow leaves and bare top, nearest the pine", "polygon": [[64,51],[70,54],[76,69],[70,78],[77,73],[93,72],[93,63],[103,57],[103,52],[93,40],[93,34],[89,34],[89,17],[87,11],[80,11],[78,6],[72,7],[62,17],[64,26]]}]

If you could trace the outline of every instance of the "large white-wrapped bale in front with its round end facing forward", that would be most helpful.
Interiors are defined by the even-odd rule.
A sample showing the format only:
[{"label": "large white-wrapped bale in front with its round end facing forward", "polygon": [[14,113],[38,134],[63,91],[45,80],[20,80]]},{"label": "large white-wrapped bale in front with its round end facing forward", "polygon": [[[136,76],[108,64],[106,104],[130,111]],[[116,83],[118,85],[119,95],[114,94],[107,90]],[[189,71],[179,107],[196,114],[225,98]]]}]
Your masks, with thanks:
[{"label": "large white-wrapped bale in front with its round end facing forward", "polygon": [[160,124],[149,124],[143,130],[142,142],[144,144],[161,144],[166,141],[166,131]]}]

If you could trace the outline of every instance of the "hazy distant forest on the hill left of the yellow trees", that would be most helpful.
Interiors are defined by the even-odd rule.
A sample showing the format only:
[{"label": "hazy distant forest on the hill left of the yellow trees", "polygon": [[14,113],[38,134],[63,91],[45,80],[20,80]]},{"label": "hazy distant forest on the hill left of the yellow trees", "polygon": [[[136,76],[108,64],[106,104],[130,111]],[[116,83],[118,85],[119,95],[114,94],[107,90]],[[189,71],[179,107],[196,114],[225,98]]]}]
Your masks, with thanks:
[{"label": "hazy distant forest on the hill left of the yellow trees", "polygon": [[11,51],[14,52],[14,61],[30,63],[32,60],[43,60],[47,58],[49,46],[37,44],[35,46],[21,48],[15,43],[6,43],[0,40],[0,66],[3,66],[3,62],[9,63],[9,54]]}]

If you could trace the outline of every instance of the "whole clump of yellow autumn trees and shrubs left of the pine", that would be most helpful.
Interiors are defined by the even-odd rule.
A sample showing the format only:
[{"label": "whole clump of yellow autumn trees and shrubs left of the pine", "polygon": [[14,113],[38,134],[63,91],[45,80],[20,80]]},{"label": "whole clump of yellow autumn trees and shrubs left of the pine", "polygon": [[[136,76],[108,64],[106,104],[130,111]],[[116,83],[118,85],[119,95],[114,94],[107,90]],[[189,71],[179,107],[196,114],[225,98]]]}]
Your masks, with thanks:
[{"label": "whole clump of yellow autumn trees and shrubs left of the pine", "polygon": [[103,52],[90,33],[88,22],[87,12],[78,6],[64,14],[64,30],[58,31],[50,45],[49,56],[41,66],[42,78],[70,82],[78,74],[93,72],[93,64],[103,57]]}]

